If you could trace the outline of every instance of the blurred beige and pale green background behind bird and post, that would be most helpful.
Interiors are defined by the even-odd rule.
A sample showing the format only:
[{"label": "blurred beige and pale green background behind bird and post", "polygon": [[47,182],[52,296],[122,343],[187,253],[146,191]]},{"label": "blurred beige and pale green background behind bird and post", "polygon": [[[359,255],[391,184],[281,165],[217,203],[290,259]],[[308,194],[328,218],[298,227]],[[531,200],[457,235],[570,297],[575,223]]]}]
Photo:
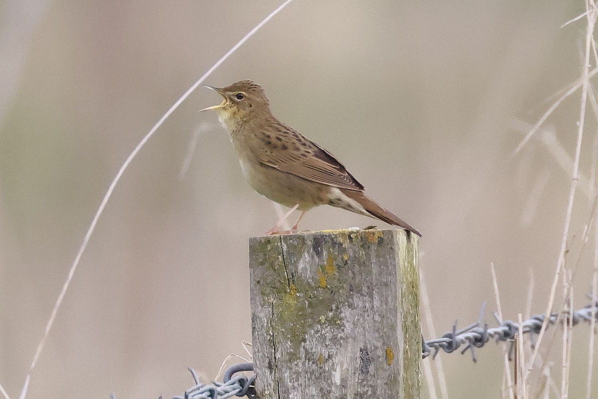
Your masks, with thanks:
[{"label": "blurred beige and pale green background behind bird and post", "polygon": [[[279,4],[0,1],[0,383],[11,397],[119,167]],[[580,76],[585,19],[560,26],[584,11],[581,1],[296,0],[206,83],[260,83],[280,120],[334,153],[371,197],[423,233],[421,269],[438,334],[455,319],[475,321],[483,301],[494,325],[490,262],[505,318],[526,312],[532,272],[530,309],[546,307],[579,92],[511,155],[551,96]],[[193,385],[187,367],[213,379],[228,354],[246,355],[248,238],[277,216],[246,184],[215,113],[197,112],[219,101],[198,89],[124,173],[29,398],[169,398]],[[589,107],[586,126],[572,251],[596,187]],[[321,207],[302,223],[318,230],[375,222]],[[590,292],[592,245],[586,252],[573,282],[579,306]],[[571,397],[585,394],[588,336],[586,325],[575,328]],[[556,342],[558,378],[560,333]],[[469,354],[439,355],[451,397],[501,397],[501,347],[477,355],[477,364]]]}]

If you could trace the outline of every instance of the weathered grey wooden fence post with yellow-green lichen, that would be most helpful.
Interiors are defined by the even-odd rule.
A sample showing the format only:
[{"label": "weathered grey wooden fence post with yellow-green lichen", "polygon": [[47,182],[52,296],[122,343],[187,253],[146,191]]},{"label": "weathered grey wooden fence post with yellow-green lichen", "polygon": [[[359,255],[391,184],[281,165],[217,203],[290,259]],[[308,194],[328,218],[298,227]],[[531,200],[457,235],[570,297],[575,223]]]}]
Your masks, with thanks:
[{"label": "weathered grey wooden fence post with yellow-green lichen", "polygon": [[253,237],[249,258],[262,399],[420,397],[416,236]]}]

